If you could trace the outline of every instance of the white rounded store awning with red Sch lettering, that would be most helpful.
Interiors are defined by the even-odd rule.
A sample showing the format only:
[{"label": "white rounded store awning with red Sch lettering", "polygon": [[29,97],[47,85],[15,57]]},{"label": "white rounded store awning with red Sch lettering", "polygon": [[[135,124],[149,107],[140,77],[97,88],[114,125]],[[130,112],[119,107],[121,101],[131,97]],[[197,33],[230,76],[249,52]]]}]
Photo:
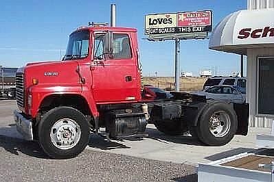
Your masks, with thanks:
[{"label": "white rounded store awning with red Sch lettering", "polygon": [[274,47],[274,9],[229,14],[212,32],[209,49],[246,54],[249,48]]}]

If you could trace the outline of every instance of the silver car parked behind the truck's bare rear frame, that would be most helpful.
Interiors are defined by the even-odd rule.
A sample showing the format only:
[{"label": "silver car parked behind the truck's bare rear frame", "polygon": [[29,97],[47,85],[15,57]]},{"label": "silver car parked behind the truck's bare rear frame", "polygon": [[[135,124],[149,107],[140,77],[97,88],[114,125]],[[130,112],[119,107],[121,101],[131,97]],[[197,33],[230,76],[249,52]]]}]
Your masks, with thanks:
[{"label": "silver car parked behind the truck's bare rear frame", "polygon": [[232,86],[212,86],[203,91],[192,92],[206,96],[207,99],[214,99],[218,101],[230,101],[232,103],[245,103],[245,94],[236,90]]}]

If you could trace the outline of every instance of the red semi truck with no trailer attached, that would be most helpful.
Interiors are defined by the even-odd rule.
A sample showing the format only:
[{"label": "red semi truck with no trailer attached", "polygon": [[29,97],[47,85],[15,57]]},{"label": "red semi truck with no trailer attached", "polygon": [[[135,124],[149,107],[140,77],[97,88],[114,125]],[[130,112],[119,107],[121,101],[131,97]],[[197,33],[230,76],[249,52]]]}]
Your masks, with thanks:
[{"label": "red semi truck with no trailer attached", "polygon": [[150,121],[163,133],[190,131],[212,146],[247,135],[248,104],[207,101],[183,92],[152,101],[142,93],[140,65],[136,29],[78,28],[69,36],[62,61],[17,70],[17,130],[56,159],[81,153],[89,134],[100,127],[113,138],[124,138],[143,135]]}]

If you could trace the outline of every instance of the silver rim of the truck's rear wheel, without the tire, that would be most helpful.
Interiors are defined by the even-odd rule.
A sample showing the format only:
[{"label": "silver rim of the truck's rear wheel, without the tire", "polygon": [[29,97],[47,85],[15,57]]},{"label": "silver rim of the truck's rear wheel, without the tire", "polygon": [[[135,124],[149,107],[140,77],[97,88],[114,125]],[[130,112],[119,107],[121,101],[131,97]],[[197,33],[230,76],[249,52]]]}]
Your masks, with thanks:
[{"label": "silver rim of the truck's rear wheel, without the tire", "polygon": [[229,133],[231,128],[231,120],[226,112],[214,112],[209,118],[209,131],[215,137],[224,137]]}]

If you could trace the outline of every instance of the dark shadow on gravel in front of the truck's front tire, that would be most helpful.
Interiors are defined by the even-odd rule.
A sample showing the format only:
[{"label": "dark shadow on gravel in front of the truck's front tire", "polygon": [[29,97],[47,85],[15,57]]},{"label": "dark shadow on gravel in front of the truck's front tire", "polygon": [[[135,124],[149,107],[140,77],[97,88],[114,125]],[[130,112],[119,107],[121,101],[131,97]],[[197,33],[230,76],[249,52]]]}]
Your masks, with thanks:
[{"label": "dark shadow on gravel in front of the truck's front tire", "polygon": [[21,140],[19,138],[10,138],[0,135],[0,148],[4,148],[14,155],[19,155],[19,153],[24,153],[25,155],[48,159],[47,155],[43,152],[37,142],[28,142]]}]

